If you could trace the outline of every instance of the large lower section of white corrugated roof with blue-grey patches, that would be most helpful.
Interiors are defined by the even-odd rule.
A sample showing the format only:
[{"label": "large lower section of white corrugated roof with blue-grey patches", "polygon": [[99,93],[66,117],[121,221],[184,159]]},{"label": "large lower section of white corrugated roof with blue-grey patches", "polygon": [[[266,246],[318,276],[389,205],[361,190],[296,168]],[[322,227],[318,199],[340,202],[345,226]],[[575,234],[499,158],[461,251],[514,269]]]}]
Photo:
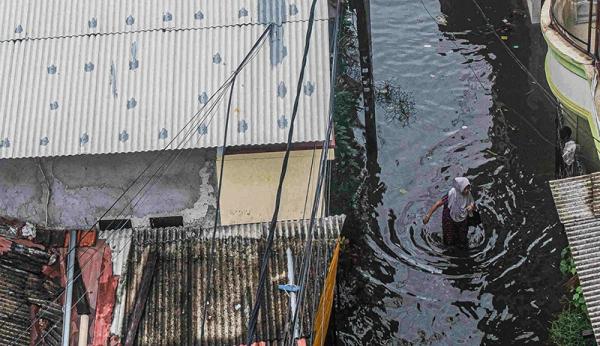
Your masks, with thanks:
[{"label": "large lower section of white corrugated roof with blue-grey patches", "polygon": [[[21,11],[25,5],[16,5],[17,2],[11,1],[11,8]],[[54,2],[61,9],[72,3]],[[129,8],[127,2],[118,2],[122,6],[117,6],[116,1],[110,2],[112,5],[93,3],[105,6],[107,11]],[[215,11],[217,8],[230,11],[237,6],[221,8],[215,3],[210,1]],[[240,0],[239,4],[242,3]],[[248,0],[248,3],[258,6],[268,2]],[[298,6],[307,11],[307,3]],[[327,8],[326,1],[322,3],[321,12]],[[36,11],[43,7],[30,5]],[[45,14],[82,13],[77,7],[82,5],[72,6],[70,14],[61,11]],[[193,17],[192,8],[185,5],[180,9],[190,11],[188,17]],[[160,12],[156,5],[147,5],[144,11],[140,12],[139,20],[150,16],[149,13]],[[55,19],[46,22],[39,19],[46,18],[43,14],[33,12],[31,18],[37,19],[31,19],[31,23],[40,23],[46,28],[43,30],[60,33],[79,26],[67,23],[60,29],[62,22]],[[231,146],[286,141],[306,29],[306,21],[286,22],[276,27],[241,73],[229,127]],[[265,25],[234,25],[1,42],[0,158],[163,149],[227,79],[264,30]],[[294,142],[322,141],[325,137],[330,79],[328,47],[328,21],[317,21]],[[222,144],[226,98],[212,121],[193,123],[190,140],[179,148]],[[179,139],[175,145],[178,143]]]}]

